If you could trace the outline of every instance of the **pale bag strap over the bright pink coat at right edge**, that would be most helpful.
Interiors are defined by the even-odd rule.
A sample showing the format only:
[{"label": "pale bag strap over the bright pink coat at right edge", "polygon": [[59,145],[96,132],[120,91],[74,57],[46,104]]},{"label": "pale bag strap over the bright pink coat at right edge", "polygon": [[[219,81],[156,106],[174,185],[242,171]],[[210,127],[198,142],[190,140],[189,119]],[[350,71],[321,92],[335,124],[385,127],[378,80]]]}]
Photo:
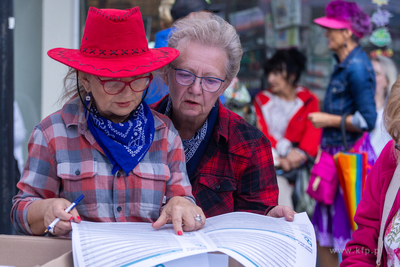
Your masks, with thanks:
[{"label": "pale bag strap over the bright pink coat at right edge", "polygon": [[379,230],[378,238],[378,253],[376,256],[376,266],[381,266],[382,249],[383,249],[383,237],[385,232],[386,221],[388,219],[390,210],[393,207],[394,200],[396,199],[397,192],[400,188],[400,164],[397,165],[396,171],[393,174],[393,178],[390,181],[388,190],[385,196],[385,202],[383,206],[381,228]]}]

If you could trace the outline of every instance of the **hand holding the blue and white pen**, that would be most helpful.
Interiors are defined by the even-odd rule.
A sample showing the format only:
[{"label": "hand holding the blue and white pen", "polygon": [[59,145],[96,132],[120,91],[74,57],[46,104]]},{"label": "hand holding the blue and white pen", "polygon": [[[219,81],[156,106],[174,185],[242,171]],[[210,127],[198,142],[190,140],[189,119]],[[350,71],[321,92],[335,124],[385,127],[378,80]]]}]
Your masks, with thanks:
[{"label": "hand holding the blue and white pen", "polygon": [[43,235],[45,229],[56,219],[56,224],[51,234],[57,236],[68,235],[72,230],[71,221],[81,221],[79,213],[74,208],[69,213],[65,209],[71,202],[64,198],[49,198],[34,201],[28,209],[28,223],[35,235]]}]

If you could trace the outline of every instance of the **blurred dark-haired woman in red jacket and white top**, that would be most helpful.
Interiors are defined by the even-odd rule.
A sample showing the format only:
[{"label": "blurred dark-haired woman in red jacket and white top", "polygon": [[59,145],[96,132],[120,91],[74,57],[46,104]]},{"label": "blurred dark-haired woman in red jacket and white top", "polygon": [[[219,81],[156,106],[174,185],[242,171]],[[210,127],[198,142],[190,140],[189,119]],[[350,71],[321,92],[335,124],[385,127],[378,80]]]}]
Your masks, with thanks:
[{"label": "blurred dark-haired woman in red jacket and white top", "polygon": [[[319,111],[318,98],[297,85],[305,63],[306,57],[295,48],[278,50],[264,64],[269,88],[254,101],[258,127],[271,142],[275,167],[284,174],[317,155],[322,134],[307,119]],[[278,203],[293,207],[293,186],[278,175],[278,187]]]}]

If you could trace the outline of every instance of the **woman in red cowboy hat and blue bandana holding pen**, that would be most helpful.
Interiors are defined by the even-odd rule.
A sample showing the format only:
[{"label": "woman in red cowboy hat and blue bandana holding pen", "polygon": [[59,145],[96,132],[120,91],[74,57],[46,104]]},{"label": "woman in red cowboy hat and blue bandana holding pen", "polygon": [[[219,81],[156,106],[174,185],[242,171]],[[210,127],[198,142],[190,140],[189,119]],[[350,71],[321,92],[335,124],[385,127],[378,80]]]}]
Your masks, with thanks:
[{"label": "woman in red cowboy hat and blue bandana holding pen", "polygon": [[[32,132],[11,218],[17,230],[66,235],[70,221],[173,222],[177,234],[205,223],[195,205],[185,154],[171,121],[143,102],[152,71],[173,48],[149,49],[138,7],[91,7],[80,49],[48,55],[69,66],[68,98]],[[67,84],[67,83],[66,83]],[[64,210],[81,194],[70,213]]]}]

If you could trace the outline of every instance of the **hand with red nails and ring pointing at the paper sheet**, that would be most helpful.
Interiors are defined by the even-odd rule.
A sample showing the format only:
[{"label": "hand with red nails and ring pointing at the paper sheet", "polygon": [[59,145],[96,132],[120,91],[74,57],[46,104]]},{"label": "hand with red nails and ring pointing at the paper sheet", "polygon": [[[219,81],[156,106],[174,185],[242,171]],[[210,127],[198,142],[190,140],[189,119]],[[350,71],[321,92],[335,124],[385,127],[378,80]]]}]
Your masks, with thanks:
[{"label": "hand with red nails and ring pointing at the paper sheet", "polygon": [[[200,215],[201,221],[195,220]],[[153,223],[154,229],[160,229],[166,223],[174,226],[175,233],[190,232],[201,229],[206,223],[203,210],[184,197],[173,197],[165,205],[160,217]]]}]

